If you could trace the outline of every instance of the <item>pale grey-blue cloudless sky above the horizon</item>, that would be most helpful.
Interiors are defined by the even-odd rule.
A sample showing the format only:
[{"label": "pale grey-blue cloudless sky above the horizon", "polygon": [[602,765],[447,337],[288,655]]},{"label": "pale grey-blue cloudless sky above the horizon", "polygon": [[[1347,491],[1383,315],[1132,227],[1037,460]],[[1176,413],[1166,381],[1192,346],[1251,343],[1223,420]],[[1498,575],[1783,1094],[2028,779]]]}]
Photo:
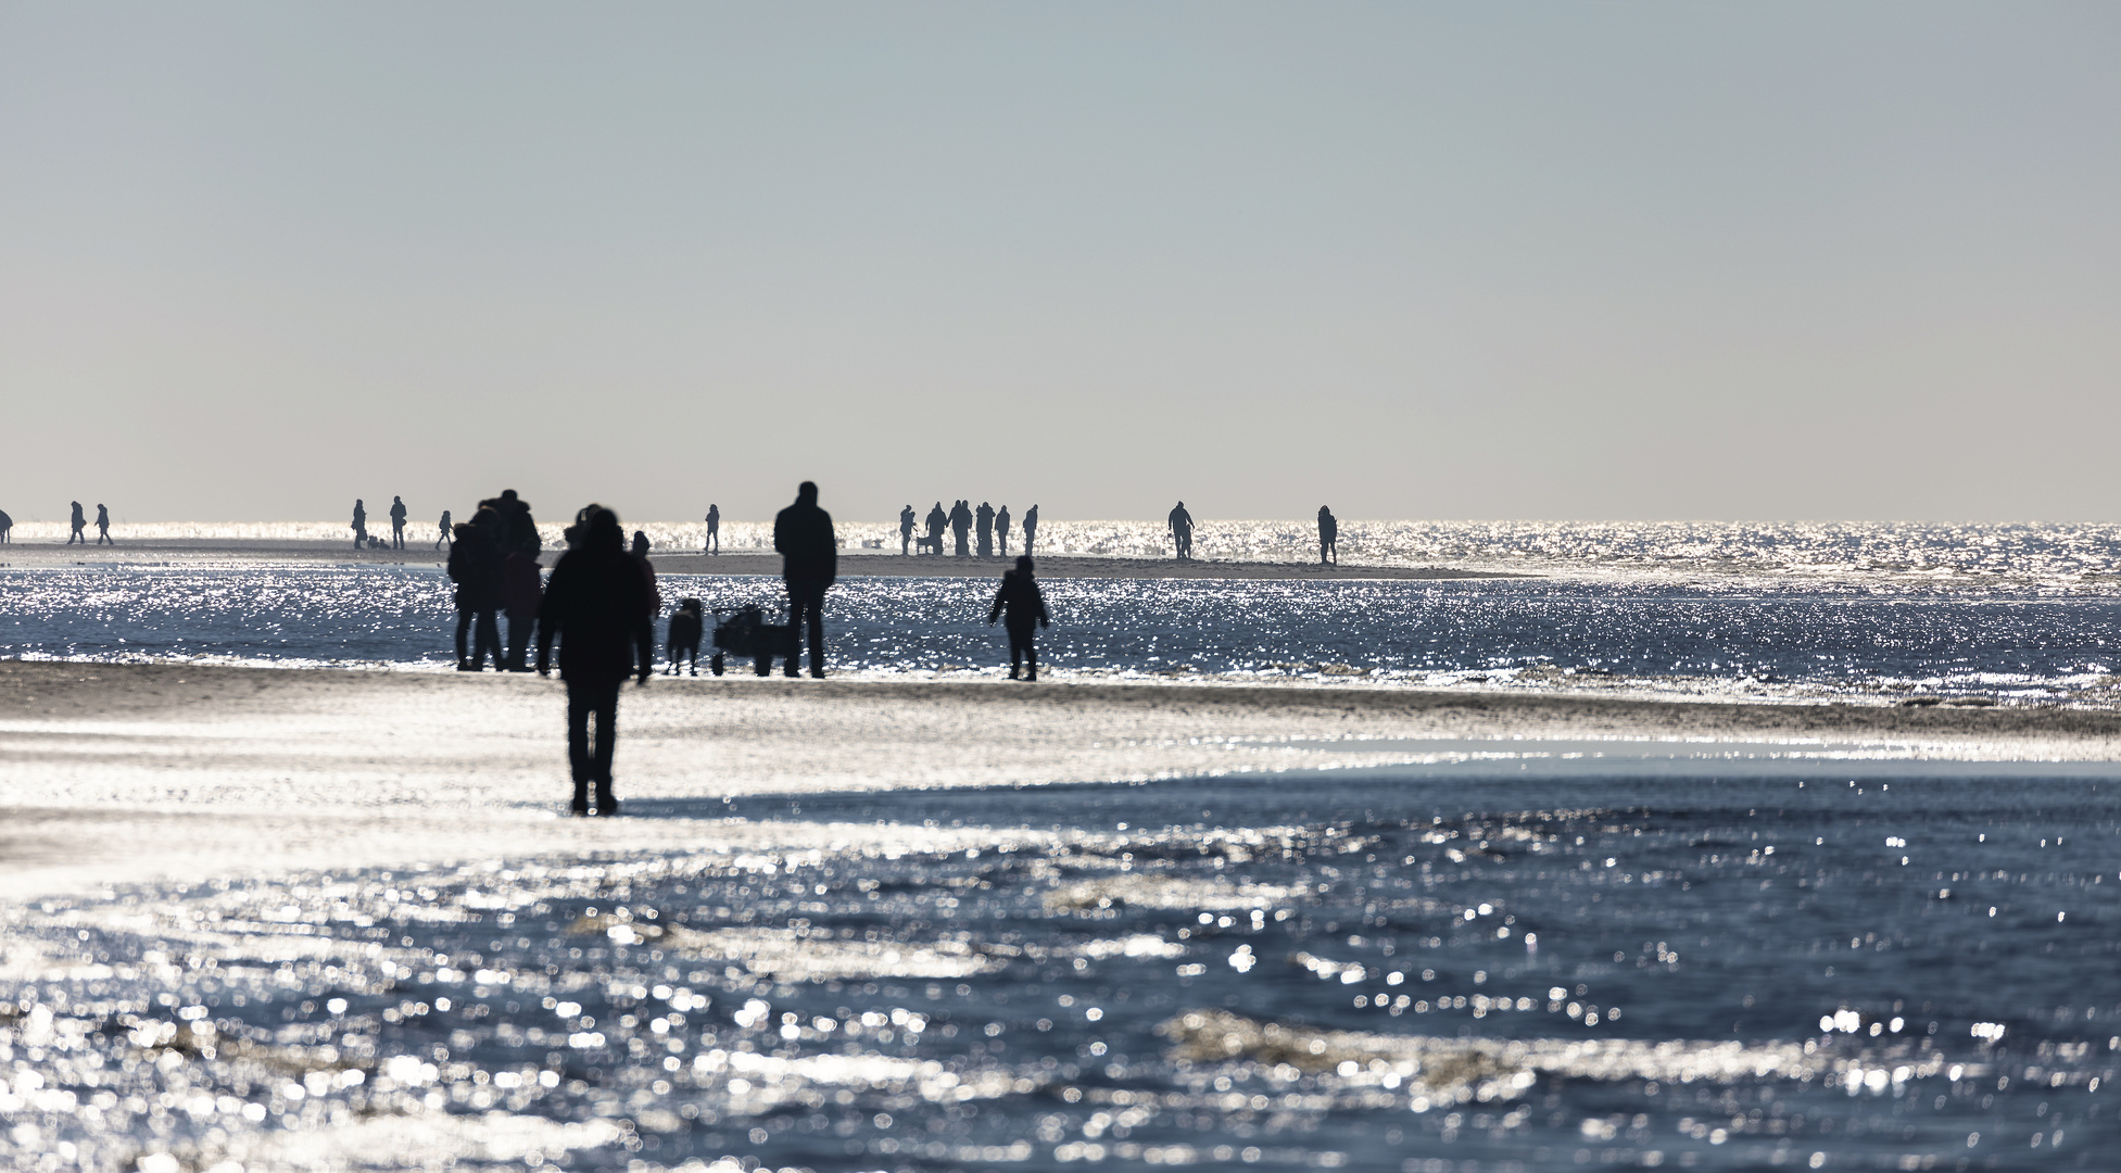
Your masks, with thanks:
[{"label": "pale grey-blue cloudless sky above the horizon", "polygon": [[0,509],[2113,520],[2121,6],[0,0]]}]

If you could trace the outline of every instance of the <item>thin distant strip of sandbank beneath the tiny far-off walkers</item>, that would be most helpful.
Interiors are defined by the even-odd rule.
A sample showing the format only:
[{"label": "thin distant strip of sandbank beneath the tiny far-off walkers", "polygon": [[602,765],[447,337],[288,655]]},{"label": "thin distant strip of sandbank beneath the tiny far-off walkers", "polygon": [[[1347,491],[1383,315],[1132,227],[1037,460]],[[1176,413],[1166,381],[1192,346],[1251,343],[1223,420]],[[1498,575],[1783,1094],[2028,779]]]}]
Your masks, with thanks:
[{"label": "thin distant strip of sandbank beneath the tiny far-off walkers", "polygon": [[[443,566],[448,549],[414,541],[405,549],[352,549],[339,541],[127,541],[125,545],[15,543],[0,547],[0,568],[51,566]],[[547,566],[558,558],[547,549]],[[781,577],[781,556],[759,549],[730,554],[653,554],[666,575],[766,575]],[[1453,566],[1319,566],[1311,562],[1220,562],[1171,558],[1103,558],[1082,554],[1039,556],[1048,579],[1510,579],[1491,571]],[[842,577],[1001,577],[1010,558],[906,558],[897,554],[842,549]]]}]

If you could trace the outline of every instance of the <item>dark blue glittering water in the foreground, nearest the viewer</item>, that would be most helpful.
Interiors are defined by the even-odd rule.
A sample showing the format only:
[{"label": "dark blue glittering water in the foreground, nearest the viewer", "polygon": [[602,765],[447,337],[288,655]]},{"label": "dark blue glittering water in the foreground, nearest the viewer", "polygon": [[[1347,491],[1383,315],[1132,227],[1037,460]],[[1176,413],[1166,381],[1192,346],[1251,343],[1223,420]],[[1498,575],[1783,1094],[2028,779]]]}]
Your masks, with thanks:
[{"label": "dark blue glittering water in the foreground, nearest the viewer", "polygon": [[23,910],[0,1154],[2110,1167],[2106,768],[1542,770],[645,800],[817,846]]}]

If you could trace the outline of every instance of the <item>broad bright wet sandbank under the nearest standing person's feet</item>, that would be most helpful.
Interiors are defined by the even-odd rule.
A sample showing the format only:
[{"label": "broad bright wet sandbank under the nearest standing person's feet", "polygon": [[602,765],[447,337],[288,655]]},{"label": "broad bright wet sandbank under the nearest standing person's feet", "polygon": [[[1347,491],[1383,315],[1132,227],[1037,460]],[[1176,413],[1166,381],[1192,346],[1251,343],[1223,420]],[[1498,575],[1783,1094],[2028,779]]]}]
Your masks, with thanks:
[{"label": "broad bright wet sandbank under the nearest standing person's feet", "polygon": [[2085,708],[702,677],[626,689],[617,774],[632,817],[577,821],[560,817],[562,713],[562,685],[537,677],[0,662],[0,895],[503,855],[755,851],[819,831],[730,821],[725,798],[1393,766],[1434,761],[1438,738],[2121,759],[2121,713]]}]

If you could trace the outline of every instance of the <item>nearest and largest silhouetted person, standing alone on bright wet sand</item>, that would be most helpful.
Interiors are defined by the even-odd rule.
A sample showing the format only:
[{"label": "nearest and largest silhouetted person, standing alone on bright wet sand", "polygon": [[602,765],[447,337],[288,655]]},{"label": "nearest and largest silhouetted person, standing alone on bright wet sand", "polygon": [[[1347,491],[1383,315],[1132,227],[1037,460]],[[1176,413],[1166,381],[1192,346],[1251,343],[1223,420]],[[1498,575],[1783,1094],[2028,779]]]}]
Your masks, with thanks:
[{"label": "nearest and largest silhouetted person, standing alone on bright wet sand", "polygon": [[[566,681],[566,761],[575,776],[575,815],[617,815],[611,795],[611,757],[619,740],[619,685],[643,685],[655,672],[655,630],[649,624],[649,588],[626,554],[626,530],[611,509],[592,505],[577,545],[560,556],[537,613],[537,675],[551,672],[551,643],[560,641],[560,679]],[[590,717],[596,740],[590,740]]]}]

